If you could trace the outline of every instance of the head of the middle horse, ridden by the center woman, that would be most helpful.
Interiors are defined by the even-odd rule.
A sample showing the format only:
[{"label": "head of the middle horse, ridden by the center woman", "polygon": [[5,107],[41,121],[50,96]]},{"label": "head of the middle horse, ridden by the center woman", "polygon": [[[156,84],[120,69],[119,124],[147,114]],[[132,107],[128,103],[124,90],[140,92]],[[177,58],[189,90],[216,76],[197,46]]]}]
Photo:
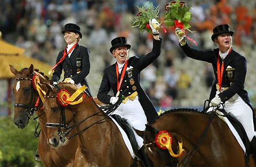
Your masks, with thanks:
[{"label": "head of the middle horse, ridden by the center woman", "polygon": [[[72,95],[76,90],[76,85],[71,83],[59,83],[54,86],[45,83],[46,96],[44,99],[44,111],[46,112],[47,119],[47,138],[48,143],[52,147],[59,147],[68,142],[67,135],[73,129],[69,126],[73,125],[73,118],[75,113],[69,107],[65,107],[61,103]],[[69,94],[70,93],[70,94]],[[62,98],[62,99],[60,99]]]}]

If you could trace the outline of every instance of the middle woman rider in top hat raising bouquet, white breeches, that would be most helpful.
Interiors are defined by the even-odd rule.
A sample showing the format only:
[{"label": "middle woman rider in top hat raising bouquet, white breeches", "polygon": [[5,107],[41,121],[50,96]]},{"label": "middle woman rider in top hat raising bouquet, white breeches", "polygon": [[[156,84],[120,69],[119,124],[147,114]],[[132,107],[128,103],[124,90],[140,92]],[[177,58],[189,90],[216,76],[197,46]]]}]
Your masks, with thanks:
[{"label": "middle woman rider in top hat raising bouquet, white breeches", "polygon": [[[125,100],[113,114],[127,119],[130,125],[138,130],[144,130],[147,121],[151,123],[158,116],[154,105],[152,105],[139,83],[141,71],[160,55],[162,39],[159,38],[158,30],[151,23],[158,25],[159,23],[155,19],[150,20],[150,27],[154,37],[152,52],[142,57],[134,56],[127,59],[131,45],[127,44],[126,37],[116,37],[111,41],[110,53],[117,59],[117,62],[104,69],[97,95],[98,100],[105,104],[115,104],[118,97],[125,96]],[[114,96],[108,94],[111,89]],[[154,166],[144,153],[143,139],[136,133],[135,138],[138,143],[139,158],[144,166]]]}]

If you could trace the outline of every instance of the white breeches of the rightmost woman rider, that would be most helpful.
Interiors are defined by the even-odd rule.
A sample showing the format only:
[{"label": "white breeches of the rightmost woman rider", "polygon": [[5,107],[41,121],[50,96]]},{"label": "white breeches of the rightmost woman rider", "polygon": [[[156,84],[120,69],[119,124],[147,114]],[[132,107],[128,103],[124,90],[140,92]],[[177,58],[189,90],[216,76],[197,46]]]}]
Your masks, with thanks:
[{"label": "white breeches of the rightmost woman rider", "polygon": [[[218,93],[218,92],[217,92]],[[245,132],[251,142],[254,134],[254,123],[253,123],[253,113],[249,105],[236,93],[224,104],[224,109],[227,113],[230,113],[234,118],[236,118],[242,124]]]}]

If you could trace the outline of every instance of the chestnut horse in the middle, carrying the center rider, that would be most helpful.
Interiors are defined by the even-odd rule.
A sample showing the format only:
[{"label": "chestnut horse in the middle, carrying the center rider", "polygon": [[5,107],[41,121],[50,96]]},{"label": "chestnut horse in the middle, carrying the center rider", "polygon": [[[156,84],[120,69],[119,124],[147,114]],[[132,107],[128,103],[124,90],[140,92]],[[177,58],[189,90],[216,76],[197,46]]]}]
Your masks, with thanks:
[{"label": "chestnut horse in the middle, carrying the center rider", "polygon": [[[62,127],[65,127],[65,122],[73,120],[75,123],[80,150],[77,149],[79,156],[76,156],[74,166],[130,167],[137,166],[137,163],[141,166],[140,161],[134,161],[117,125],[90,96],[80,92],[73,101],[69,100],[69,96],[77,93],[75,84],[59,82],[56,87],[47,83],[46,85],[48,90],[44,99],[44,111],[48,123]],[[77,99],[81,101],[77,102]],[[69,104],[72,101],[74,104]],[[58,138],[58,133],[60,132],[56,128],[49,128],[48,140],[55,140],[56,143],[59,140],[68,140]],[[86,157],[86,161],[82,162],[81,157]]]}]

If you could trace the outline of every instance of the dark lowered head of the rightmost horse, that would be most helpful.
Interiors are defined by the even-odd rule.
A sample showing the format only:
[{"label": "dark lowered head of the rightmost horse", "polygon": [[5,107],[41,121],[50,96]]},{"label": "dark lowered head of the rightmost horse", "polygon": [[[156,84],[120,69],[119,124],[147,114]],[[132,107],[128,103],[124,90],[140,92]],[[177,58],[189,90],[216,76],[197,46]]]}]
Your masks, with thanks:
[{"label": "dark lowered head of the rightmost horse", "polygon": [[154,129],[154,127],[148,124],[146,125],[146,129],[144,131],[137,129],[134,130],[143,138],[145,151],[148,157],[150,157],[151,161],[155,164],[155,167],[171,167],[171,165],[175,165],[175,159],[170,156],[167,149],[159,148],[155,142],[156,135],[159,132],[158,130]]}]

